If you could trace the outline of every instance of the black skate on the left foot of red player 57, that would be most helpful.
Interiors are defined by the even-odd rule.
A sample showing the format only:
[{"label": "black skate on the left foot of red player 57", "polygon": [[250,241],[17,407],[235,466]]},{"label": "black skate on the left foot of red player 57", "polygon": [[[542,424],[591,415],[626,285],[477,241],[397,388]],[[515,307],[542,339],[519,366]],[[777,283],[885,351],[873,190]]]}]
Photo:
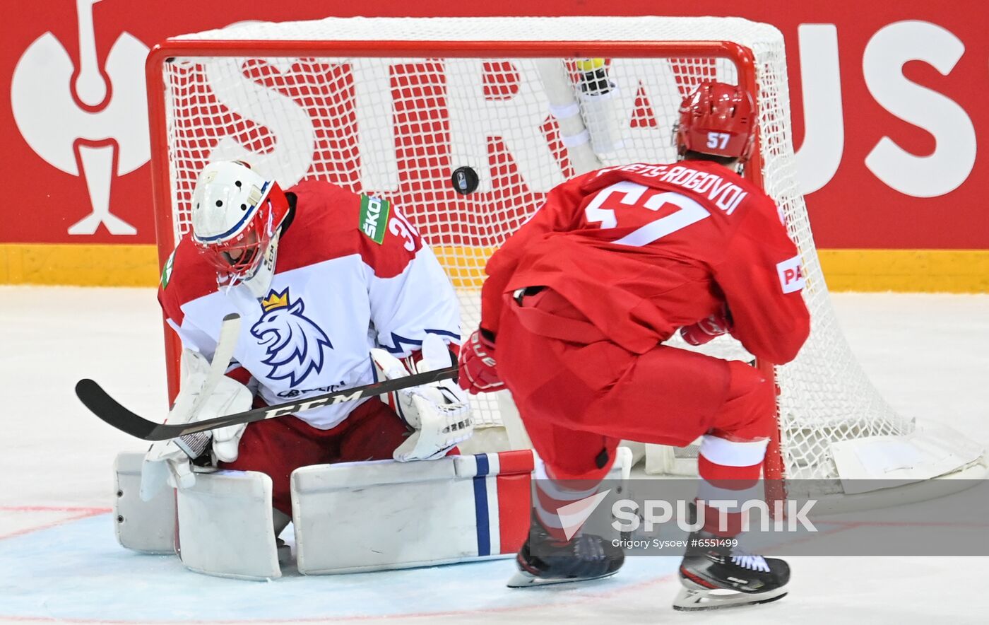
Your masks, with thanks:
[{"label": "black skate on the left foot of red player 57", "polygon": [[522,549],[515,558],[518,573],[508,580],[509,588],[586,581],[618,573],[625,552],[607,538],[585,534],[557,541],[533,521]]}]

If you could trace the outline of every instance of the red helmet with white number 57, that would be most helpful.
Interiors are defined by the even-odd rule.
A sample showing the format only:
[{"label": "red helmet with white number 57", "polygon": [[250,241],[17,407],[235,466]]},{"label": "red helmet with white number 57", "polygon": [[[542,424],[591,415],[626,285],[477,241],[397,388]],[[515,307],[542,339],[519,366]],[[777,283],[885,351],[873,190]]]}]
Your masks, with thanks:
[{"label": "red helmet with white number 57", "polygon": [[752,94],[724,82],[700,83],[683,98],[674,142],[686,151],[746,161],[756,141],[756,105]]}]

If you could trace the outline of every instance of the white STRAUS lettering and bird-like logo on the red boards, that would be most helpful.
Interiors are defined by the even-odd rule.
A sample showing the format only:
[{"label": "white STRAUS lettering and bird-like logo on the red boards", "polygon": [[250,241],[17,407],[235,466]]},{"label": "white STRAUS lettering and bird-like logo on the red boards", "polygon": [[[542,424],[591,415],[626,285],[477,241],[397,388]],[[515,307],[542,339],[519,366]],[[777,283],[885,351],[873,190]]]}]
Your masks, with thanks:
[{"label": "white STRAUS lettering and bird-like logo on the red boards", "polygon": [[[73,224],[68,232],[93,234],[100,224],[105,224],[112,234],[135,234],[132,225],[110,212],[109,202],[114,177],[134,171],[149,156],[142,65],[147,47],[130,33],[123,33],[107,55],[101,71],[93,33],[93,5],[99,1],[76,0],[78,72],[61,43],[51,32],[46,32],[18,60],[11,85],[11,106],[15,122],[32,150],[52,166],[70,175],[83,176],[86,181],[91,213]],[[797,33],[802,66],[816,68],[813,75],[803,72],[806,134],[797,151],[801,190],[810,193],[831,180],[842,160],[846,135],[842,122],[842,76],[837,63],[835,25],[801,25]],[[956,102],[938,91],[911,82],[901,70],[905,62],[920,60],[946,75],[955,68],[963,52],[963,43],[949,31],[937,24],[920,21],[884,26],[870,38],[863,52],[864,78],[873,99],[895,117],[927,130],[938,140],[937,151],[930,156],[912,155],[888,137],[877,141],[865,165],[900,193],[916,197],[944,195],[970,175],[976,155],[976,135],[971,118]],[[640,92],[648,98],[663,92],[671,84],[676,87],[673,71],[666,63],[646,71],[634,67],[634,62],[635,59],[615,59],[612,63],[612,78],[619,84],[614,95],[626,113],[635,109]],[[523,65],[519,67],[524,68]],[[355,60],[354,72],[359,142],[394,145],[392,124],[367,123],[378,115],[389,118],[392,115],[391,107],[382,106],[383,99],[390,99],[388,67]],[[481,73],[476,73],[455,79],[450,88],[458,91],[458,97],[463,94],[467,94],[464,97],[482,97],[477,95]],[[520,73],[527,74],[529,70]],[[721,73],[719,66],[715,77],[731,79]],[[74,80],[73,75],[76,76]],[[218,98],[244,118],[271,130],[278,139],[272,150],[251,154],[249,158],[258,168],[269,171],[286,186],[291,185],[312,166],[313,152],[307,147],[314,145],[313,122],[292,98],[246,77],[242,80],[247,87],[247,96],[241,96],[242,101],[226,98],[223,94],[218,94]],[[559,170],[558,163],[550,160],[552,155],[548,153],[541,133],[533,132],[533,128],[538,130],[538,125],[530,128],[530,120],[526,117],[524,128],[515,123],[507,129],[502,127],[508,125],[504,120],[511,119],[516,108],[526,116],[531,114],[536,122],[539,120],[535,111],[544,118],[548,115],[545,103],[542,108],[535,109],[521,105],[523,100],[531,104],[542,103],[544,99],[538,86],[530,88],[528,83],[523,86],[522,91],[510,98],[484,101],[479,119],[456,116],[451,119],[453,156],[460,158],[463,151],[473,158],[479,147],[487,149],[488,137],[507,133],[510,135],[505,140],[508,151],[518,160],[525,182],[532,190],[545,191],[559,181]],[[275,108],[272,108],[272,102],[277,104]],[[665,138],[675,112],[660,107],[654,107],[652,112],[655,126],[624,129],[623,132],[631,137],[626,141],[629,150],[623,153],[623,160],[656,159],[659,144],[647,136],[660,133]],[[294,120],[292,124],[274,119],[286,115]],[[520,134],[511,135],[512,132]],[[285,148],[290,143],[292,148]],[[641,155],[647,149],[651,156],[643,158]],[[226,138],[211,157],[244,154],[250,153],[232,138]],[[487,157],[487,154],[483,156]],[[399,174],[394,151],[374,151],[368,158],[362,158],[360,166],[364,188],[380,191],[397,188]],[[484,169],[482,185],[490,185],[490,171],[487,171],[488,167]]]}]

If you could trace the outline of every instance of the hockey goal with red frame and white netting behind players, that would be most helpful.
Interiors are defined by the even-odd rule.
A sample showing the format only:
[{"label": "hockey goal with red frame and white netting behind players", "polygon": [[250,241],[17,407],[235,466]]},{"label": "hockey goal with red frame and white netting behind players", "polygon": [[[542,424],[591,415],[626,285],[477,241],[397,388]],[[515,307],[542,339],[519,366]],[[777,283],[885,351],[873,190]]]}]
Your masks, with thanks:
[{"label": "hockey goal with red frame and white netting behind players", "polygon": [[[596,93],[581,86],[592,69],[606,74],[593,83],[604,86]],[[843,444],[909,445],[918,431],[866,379],[833,312],[797,188],[783,40],[771,26],[739,18],[330,18],[169,39],[147,61],[159,259],[189,231],[192,189],[211,160],[244,159],[283,188],[328,180],[401,208],[454,282],[466,336],[479,321],[485,261],[546,192],[594,166],[674,161],[679,102],[712,78],[757,96],[758,150],[746,175],[780,206],[806,271],[810,338],[793,363],[761,367],[780,390],[765,475],[790,488],[794,479],[817,480],[811,494],[842,495],[840,476],[874,476],[839,470]],[[466,194],[451,181],[462,166],[478,174]],[[166,334],[174,396],[179,344]],[[478,396],[479,421],[498,423],[499,403]],[[943,462],[926,477],[979,465],[981,450],[960,435],[940,433],[939,441]]]}]

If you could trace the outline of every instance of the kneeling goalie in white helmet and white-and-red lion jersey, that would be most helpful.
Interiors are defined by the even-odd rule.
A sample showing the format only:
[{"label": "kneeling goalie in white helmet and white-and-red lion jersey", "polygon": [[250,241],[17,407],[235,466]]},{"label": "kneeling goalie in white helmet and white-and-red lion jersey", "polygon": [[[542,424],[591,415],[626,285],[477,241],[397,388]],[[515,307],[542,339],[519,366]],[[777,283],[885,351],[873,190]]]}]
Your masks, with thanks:
[{"label": "kneeling goalie in white helmet and white-and-red lion jersey", "polygon": [[[173,413],[173,423],[407,374],[398,359],[420,371],[448,366],[460,343],[453,287],[398,207],[317,180],[283,192],[241,162],[203,170],[192,232],[167,261],[158,299],[182,339],[181,393],[203,385],[225,315],[242,321],[226,376],[198,414]],[[388,403],[327,405],[217,430],[213,454],[221,468],[271,476],[284,527],[294,469],[443,456],[471,436],[466,399],[448,380]],[[195,480],[174,443],[152,447],[144,469],[145,497],[162,475],[179,487]]]}]

